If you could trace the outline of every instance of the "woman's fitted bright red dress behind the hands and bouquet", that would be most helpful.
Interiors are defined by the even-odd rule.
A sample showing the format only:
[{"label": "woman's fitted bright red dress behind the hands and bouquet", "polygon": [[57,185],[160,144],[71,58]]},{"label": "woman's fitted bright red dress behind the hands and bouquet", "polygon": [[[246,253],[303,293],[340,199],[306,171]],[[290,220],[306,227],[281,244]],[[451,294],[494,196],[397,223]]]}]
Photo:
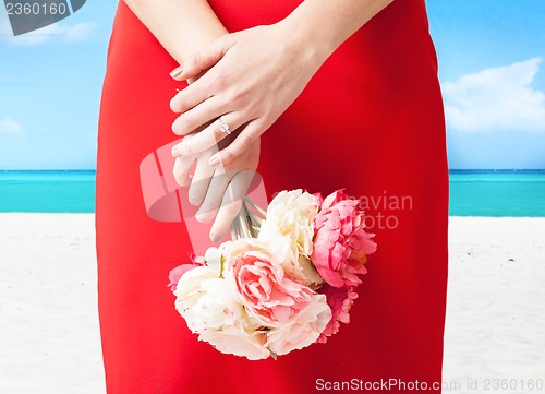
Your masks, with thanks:
[{"label": "woman's fitted bright red dress behind the hands and bouquet", "polygon": [[[274,23],[298,0],[215,0],[229,31]],[[278,360],[223,355],[191,334],[168,274],[187,230],[147,214],[140,165],[177,139],[177,63],[120,1],[100,109],[98,301],[108,394],[414,392],[441,379],[448,171],[437,60],[424,0],[398,0],[346,41],[264,134],[258,172],[283,189],[363,199],[378,251],[351,323]],[[343,384],[343,385],[341,385]],[[382,385],[380,385],[382,384]],[[413,390],[411,389],[411,384]],[[372,390],[368,390],[372,391]],[[339,392],[338,390],[336,392]]]}]

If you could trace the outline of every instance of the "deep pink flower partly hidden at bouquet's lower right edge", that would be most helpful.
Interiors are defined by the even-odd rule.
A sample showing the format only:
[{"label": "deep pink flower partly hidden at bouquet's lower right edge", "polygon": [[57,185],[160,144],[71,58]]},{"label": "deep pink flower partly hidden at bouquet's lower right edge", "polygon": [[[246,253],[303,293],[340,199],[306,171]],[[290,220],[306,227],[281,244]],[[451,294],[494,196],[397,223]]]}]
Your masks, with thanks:
[{"label": "deep pink flower partly hidden at bouquet's lower right edge", "polygon": [[340,323],[350,323],[350,314],[348,312],[358,298],[358,294],[352,287],[337,288],[328,284],[322,286],[318,292],[327,297],[327,305],[331,308],[331,320],[329,320],[317,341],[320,344],[325,344],[328,336],[337,334]]}]

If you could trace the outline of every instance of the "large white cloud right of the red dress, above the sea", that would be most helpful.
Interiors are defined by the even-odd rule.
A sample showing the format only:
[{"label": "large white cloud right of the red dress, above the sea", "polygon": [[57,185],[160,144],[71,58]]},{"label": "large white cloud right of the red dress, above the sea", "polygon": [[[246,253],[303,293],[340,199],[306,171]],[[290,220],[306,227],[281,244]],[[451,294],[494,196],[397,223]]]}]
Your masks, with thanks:
[{"label": "large white cloud right of the red dress, above the sea", "polygon": [[545,94],[531,86],[541,62],[533,58],[444,83],[447,126],[465,132],[545,132]]}]

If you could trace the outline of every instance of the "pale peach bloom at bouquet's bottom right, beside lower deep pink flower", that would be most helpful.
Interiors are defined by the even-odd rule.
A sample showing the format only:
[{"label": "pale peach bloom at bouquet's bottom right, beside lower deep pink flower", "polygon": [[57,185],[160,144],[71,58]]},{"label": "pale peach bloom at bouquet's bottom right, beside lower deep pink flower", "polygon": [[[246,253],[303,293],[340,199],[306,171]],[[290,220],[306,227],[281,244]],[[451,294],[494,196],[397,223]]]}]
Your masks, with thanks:
[{"label": "pale peach bloom at bouquet's bottom right, beside lower deep pink flower", "polygon": [[312,302],[289,324],[270,330],[267,344],[270,351],[281,356],[314,344],[331,320],[326,296],[313,295]]}]

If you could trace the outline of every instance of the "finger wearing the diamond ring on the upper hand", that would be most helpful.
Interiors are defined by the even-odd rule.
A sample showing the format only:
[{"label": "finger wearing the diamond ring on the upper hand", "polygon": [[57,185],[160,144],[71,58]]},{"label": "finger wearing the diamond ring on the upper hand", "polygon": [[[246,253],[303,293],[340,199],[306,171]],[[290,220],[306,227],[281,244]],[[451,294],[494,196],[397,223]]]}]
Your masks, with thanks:
[{"label": "finger wearing the diamond ring on the upper hand", "polygon": [[[191,140],[183,140],[172,147],[172,156],[192,156],[216,147],[217,144],[227,138],[233,130],[242,126],[242,114],[231,112],[220,117],[202,132],[196,133]],[[211,156],[211,154],[210,154]],[[209,157],[209,156],[208,156]]]}]

